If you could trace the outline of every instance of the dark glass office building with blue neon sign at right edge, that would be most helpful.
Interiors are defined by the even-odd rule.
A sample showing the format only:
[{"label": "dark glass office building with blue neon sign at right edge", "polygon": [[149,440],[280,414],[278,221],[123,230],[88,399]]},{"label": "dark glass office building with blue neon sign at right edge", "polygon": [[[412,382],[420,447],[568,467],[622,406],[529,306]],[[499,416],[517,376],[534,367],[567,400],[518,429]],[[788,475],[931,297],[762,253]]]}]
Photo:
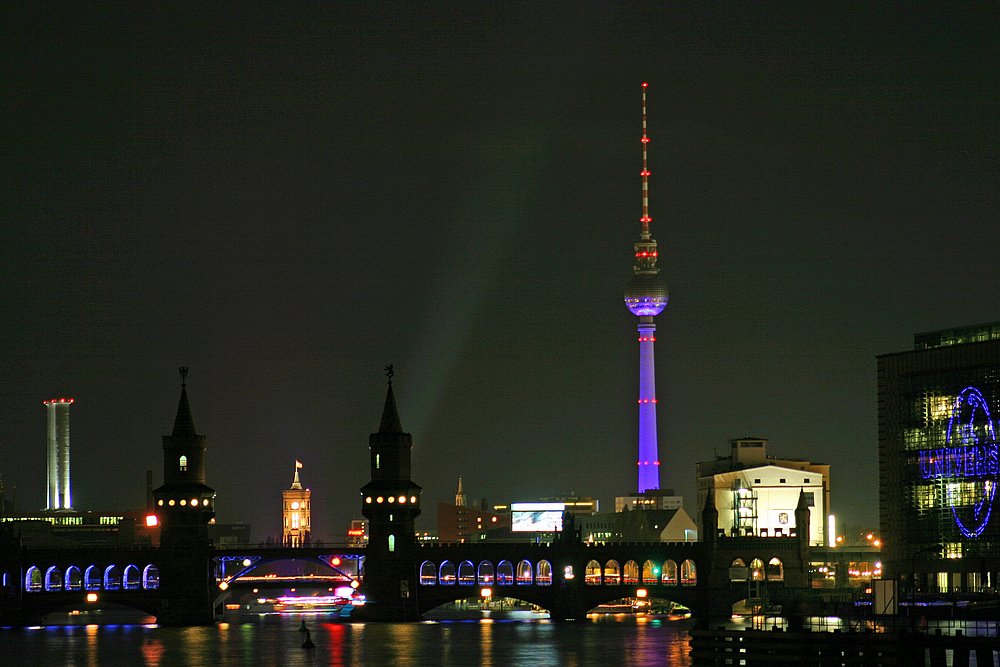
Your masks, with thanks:
[{"label": "dark glass office building with blue neon sign at right edge", "polygon": [[878,413],[886,575],[929,593],[996,590],[1000,322],[879,356]]}]

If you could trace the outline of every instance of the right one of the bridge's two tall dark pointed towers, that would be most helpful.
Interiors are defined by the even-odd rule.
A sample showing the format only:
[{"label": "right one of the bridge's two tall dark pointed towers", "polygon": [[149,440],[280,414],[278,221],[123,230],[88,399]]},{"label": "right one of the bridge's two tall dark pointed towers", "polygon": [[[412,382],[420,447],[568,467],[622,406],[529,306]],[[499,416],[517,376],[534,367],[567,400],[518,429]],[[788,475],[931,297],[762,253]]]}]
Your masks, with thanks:
[{"label": "right one of the bridge's two tall dark pointed towers", "polygon": [[413,521],[420,514],[420,487],[410,479],[413,436],[403,432],[389,388],[378,433],[368,437],[371,481],[361,487],[361,513],[368,519],[364,588],[368,604],[358,608],[370,620],[420,620],[417,608],[417,539]]}]

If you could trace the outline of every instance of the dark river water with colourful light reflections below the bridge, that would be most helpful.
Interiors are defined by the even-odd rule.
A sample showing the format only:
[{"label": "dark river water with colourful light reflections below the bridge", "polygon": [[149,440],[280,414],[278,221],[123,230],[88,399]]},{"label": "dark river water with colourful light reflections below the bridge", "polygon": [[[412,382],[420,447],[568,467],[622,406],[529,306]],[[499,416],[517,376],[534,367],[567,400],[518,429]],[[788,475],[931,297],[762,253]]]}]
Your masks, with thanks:
[{"label": "dark river water with colourful light reflections below the bridge", "polygon": [[[305,649],[305,618],[315,648]],[[553,623],[512,620],[350,623],[322,615],[257,618],[200,628],[77,625],[0,628],[11,665],[329,665],[330,667],[686,667],[687,628],[642,616]],[[13,658],[13,660],[11,660]]]}]

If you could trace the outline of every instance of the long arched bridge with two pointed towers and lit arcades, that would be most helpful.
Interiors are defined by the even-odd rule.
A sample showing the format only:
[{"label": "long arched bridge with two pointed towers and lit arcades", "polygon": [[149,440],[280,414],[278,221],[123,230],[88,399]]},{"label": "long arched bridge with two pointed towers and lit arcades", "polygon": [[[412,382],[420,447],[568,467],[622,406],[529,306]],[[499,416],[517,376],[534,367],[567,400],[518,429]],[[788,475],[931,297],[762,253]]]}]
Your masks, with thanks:
[{"label": "long arched bridge with two pointed towers and lit arcades", "polygon": [[[371,620],[418,620],[442,604],[480,597],[484,588],[538,605],[553,619],[579,619],[601,604],[641,596],[678,602],[709,619],[728,617],[732,603],[747,597],[746,581],[730,581],[734,566],[763,564],[775,589],[809,585],[809,510],[801,499],[798,536],[710,533],[694,543],[586,544],[570,519],[547,544],[418,545],[413,520],[421,489],[410,479],[412,442],[400,427],[391,382],[379,431],[369,438],[371,481],[361,490],[367,547],[213,546],[206,526],[215,495],[205,485],[205,437],[194,431],[184,389],[174,433],[163,441],[165,483],[154,492],[160,546],[30,549],[4,524],[0,622],[26,624],[53,611],[125,604],[164,625],[208,624],[233,595],[297,585],[351,586],[367,600],[353,617]],[[703,525],[718,525],[712,494],[708,499]],[[259,570],[288,561],[320,572],[279,580]]]}]

